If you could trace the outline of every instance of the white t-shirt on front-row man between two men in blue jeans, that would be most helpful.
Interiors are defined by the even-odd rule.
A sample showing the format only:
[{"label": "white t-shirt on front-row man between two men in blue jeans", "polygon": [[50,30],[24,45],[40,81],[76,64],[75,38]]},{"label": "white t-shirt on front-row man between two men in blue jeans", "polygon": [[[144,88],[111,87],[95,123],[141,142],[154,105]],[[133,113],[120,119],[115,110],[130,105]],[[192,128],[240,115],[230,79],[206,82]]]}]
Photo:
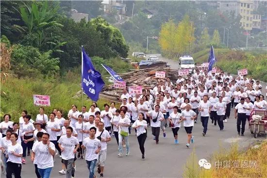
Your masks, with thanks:
[{"label": "white t-shirt on front-row man between two men in blue jeans", "polygon": [[79,141],[76,137],[70,136],[67,138],[67,135],[62,135],[58,140],[58,143],[65,149],[61,152],[61,156],[63,160],[74,159],[74,149],[76,145],[79,145]]}]

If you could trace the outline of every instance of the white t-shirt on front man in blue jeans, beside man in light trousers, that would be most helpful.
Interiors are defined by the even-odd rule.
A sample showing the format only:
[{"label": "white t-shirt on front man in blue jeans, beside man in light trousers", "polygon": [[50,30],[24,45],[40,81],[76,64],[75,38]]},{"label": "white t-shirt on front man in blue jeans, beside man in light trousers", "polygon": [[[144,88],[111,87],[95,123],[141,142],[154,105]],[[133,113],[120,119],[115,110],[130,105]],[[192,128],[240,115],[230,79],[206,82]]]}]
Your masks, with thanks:
[{"label": "white t-shirt on front man in blue jeans, beside man in light trousers", "polygon": [[96,154],[95,152],[98,149],[98,147],[101,146],[99,139],[95,138],[92,140],[89,137],[87,137],[83,140],[83,146],[85,146],[86,149],[86,154],[85,154],[86,161],[92,161],[98,159],[98,154]]}]

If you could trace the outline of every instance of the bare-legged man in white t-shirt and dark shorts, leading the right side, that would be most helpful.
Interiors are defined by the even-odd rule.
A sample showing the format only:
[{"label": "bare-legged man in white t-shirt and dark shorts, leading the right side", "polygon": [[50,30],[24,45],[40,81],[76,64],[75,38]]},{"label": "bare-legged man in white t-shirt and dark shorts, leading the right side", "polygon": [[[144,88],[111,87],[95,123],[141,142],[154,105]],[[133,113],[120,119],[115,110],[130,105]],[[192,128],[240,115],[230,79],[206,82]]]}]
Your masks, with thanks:
[{"label": "bare-legged man in white t-shirt and dark shorts, leading the right side", "polygon": [[197,114],[190,108],[191,106],[187,104],[186,110],[181,113],[181,121],[184,121],[184,129],[187,133],[186,147],[188,148],[190,147],[190,141],[192,144],[194,143],[194,136],[192,135],[192,129],[194,126],[194,120],[197,117]]}]

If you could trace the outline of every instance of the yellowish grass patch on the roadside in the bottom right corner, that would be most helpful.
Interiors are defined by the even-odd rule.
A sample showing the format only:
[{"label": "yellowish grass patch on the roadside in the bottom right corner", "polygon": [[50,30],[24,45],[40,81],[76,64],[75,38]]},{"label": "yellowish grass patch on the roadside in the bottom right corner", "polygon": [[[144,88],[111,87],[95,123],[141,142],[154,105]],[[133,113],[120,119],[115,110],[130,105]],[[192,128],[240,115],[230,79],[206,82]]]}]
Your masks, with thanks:
[{"label": "yellowish grass patch on the roadside in the bottom right corner", "polygon": [[[195,150],[184,165],[184,178],[267,178],[267,141],[258,148],[242,151],[234,143],[230,149],[220,148],[210,160],[212,167],[204,169]],[[255,161],[255,162],[254,162]],[[228,164],[230,163],[230,164]],[[221,164],[221,166],[218,166]],[[216,166],[217,165],[217,166]]]}]

